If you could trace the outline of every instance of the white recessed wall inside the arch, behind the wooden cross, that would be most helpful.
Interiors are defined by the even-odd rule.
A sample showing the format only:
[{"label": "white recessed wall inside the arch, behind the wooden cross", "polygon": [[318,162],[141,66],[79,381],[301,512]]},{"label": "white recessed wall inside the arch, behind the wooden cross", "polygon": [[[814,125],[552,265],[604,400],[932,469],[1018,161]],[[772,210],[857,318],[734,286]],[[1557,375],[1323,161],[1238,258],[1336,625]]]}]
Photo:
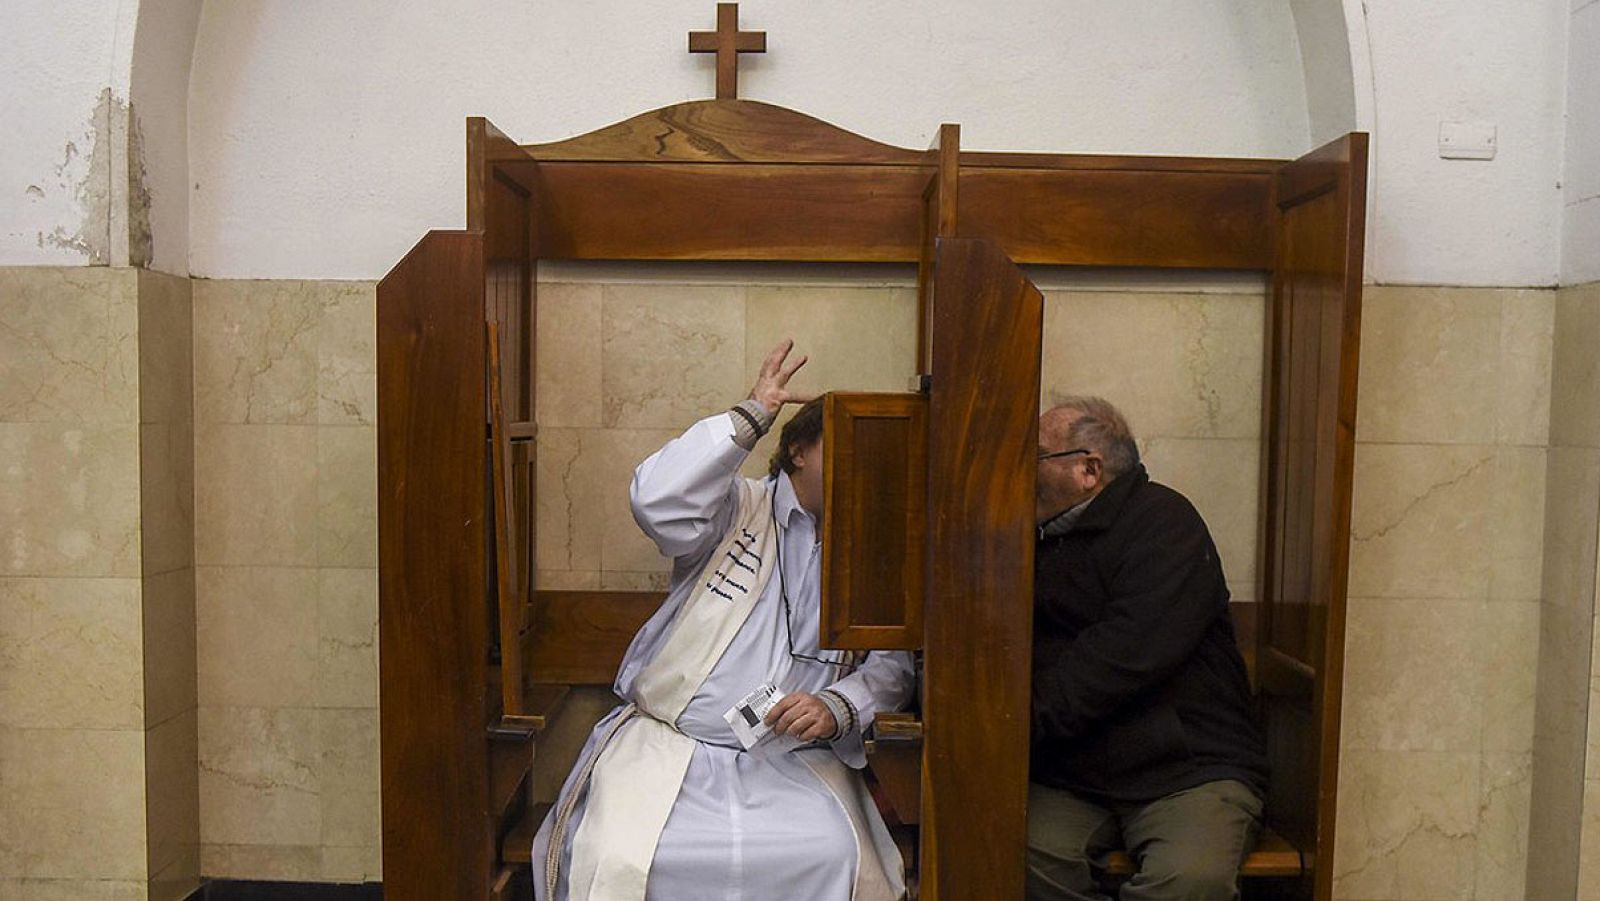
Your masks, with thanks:
[{"label": "white recessed wall inside the arch, behind the wooden cross", "polygon": [[[1294,155],[1282,0],[746,2],[741,94],[926,146]],[[462,118],[552,141],[709,96],[707,0],[206,3],[190,80],[192,258],[210,277],[371,278],[464,219]]]}]

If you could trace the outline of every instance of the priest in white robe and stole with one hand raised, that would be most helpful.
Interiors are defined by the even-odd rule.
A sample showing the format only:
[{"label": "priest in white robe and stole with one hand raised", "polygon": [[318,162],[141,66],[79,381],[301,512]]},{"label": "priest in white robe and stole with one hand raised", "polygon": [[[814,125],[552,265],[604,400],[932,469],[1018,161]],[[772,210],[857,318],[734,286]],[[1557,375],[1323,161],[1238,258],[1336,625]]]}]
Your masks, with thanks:
[{"label": "priest in white robe and stole with one hand raised", "polygon": [[539,901],[904,895],[856,770],[862,730],[910,699],[914,669],[907,653],[818,648],[821,402],[784,426],[766,479],[739,477],[778,410],[802,400],[786,387],[805,363],[786,363],[790,346],[747,400],[634,472],[634,519],[672,557],[672,591],[622,658],[624,704],[534,839]]}]

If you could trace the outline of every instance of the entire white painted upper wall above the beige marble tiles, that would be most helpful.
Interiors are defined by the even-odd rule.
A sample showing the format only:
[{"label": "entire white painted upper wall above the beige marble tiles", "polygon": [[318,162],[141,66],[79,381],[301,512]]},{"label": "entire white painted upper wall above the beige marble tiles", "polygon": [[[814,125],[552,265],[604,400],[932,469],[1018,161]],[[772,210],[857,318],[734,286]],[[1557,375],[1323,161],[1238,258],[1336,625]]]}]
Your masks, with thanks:
[{"label": "entire white painted upper wall above the beige marble tiles", "polygon": [[[157,267],[376,277],[424,229],[461,224],[466,115],[549,141],[712,85],[710,61],[683,53],[709,0],[200,3],[0,6],[0,264],[126,250],[91,208],[123,174],[90,163],[107,88],[131,94],[142,130]],[[742,93],[904,146],[960,122],[968,147],[1294,155],[1368,128],[1371,278],[1586,282],[1600,278],[1595,6],[747,0],[771,51],[746,61]],[[1496,123],[1498,158],[1440,160],[1442,120]]]}]

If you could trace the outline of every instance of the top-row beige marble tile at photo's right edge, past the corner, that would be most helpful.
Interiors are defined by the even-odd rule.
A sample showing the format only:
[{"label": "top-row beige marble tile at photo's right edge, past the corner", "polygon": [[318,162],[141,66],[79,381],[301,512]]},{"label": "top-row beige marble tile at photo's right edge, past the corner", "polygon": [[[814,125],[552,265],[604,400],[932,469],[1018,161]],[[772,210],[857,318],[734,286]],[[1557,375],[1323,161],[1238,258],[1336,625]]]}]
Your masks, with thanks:
[{"label": "top-row beige marble tile at photo's right edge, past the corner", "polygon": [[1550,445],[1600,448],[1600,283],[1562,288],[1550,363]]}]

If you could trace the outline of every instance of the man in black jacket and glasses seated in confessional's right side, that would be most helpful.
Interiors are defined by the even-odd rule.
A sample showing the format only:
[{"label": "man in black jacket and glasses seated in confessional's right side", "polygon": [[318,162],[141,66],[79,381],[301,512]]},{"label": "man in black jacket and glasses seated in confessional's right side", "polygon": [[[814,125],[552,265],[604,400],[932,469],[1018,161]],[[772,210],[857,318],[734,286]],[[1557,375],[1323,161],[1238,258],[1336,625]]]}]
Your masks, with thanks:
[{"label": "man in black jacket and glasses seated in confessional's right side", "polygon": [[1038,421],[1027,896],[1238,898],[1267,760],[1205,522],[1098,397]]}]

